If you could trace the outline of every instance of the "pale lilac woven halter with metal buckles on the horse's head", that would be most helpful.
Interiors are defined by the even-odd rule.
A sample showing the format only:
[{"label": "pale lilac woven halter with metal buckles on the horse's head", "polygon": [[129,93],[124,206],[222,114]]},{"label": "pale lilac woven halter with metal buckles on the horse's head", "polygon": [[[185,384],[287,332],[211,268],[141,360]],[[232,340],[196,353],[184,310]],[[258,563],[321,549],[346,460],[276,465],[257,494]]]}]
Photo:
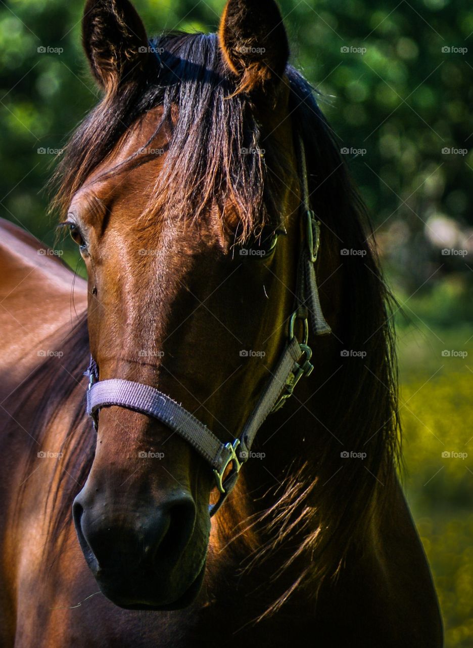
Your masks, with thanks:
[{"label": "pale lilac woven halter with metal buckles on the horse's head", "polygon": [[[87,414],[98,428],[98,413],[107,406],[119,406],[151,416],[177,432],[210,464],[220,492],[217,503],[209,505],[210,516],[217,513],[238,479],[241,467],[248,461],[256,433],[273,411],[279,410],[291,397],[296,384],[313,370],[309,347],[309,321],[315,335],[331,332],[325,321],[316,283],[314,263],[320,246],[320,223],[309,208],[309,181],[302,138],[298,137],[298,159],[302,177],[300,211],[305,219],[303,240],[297,272],[296,304],[289,319],[289,334],[285,349],[271,372],[256,407],[232,443],[222,443],[209,428],[193,414],[158,389],[130,380],[98,380],[98,366],[91,357],[87,375]],[[302,321],[303,340],[294,334],[296,320]],[[231,468],[226,474],[228,467]],[[225,476],[226,474],[226,476]]]}]

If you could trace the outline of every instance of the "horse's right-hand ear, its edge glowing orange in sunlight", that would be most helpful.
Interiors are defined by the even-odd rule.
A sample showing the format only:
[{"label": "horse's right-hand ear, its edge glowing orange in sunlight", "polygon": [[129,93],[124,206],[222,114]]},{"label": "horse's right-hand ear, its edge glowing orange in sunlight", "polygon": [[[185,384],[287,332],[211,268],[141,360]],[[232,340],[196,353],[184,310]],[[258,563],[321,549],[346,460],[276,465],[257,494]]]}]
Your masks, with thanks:
[{"label": "horse's right-hand ear, its edge glowing orange in sunlight", "polygon": [[219,41],[226,65],[239,76],[237,92],[265,88],[283,75],[289,43],[274,0],[228,0]]}]

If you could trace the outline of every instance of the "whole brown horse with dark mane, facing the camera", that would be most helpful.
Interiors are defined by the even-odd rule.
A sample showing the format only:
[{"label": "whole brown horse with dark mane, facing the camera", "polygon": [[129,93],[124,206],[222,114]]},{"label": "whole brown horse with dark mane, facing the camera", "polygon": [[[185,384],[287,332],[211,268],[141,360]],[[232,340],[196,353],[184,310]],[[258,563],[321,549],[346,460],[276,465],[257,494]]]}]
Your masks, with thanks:
[{"label": "whole brown horse with dark mane, facing the camera", "polygon": [[[83,44],[104,98],[57,174],[89,277],[73,308],[72,273],[1,224],[1,646],[440,647],[396,474],[388,296],[276,4],[228,0],[218,35],[150,43],[127,0],[89,0]],[[102,407],[94,432],[83,372],[92,353],[100,381],[239,437],[307,333],[289,334],[303,161],[332,332],[311,327],[314,371],[211,520],[208,462],[139,408]]]}]

